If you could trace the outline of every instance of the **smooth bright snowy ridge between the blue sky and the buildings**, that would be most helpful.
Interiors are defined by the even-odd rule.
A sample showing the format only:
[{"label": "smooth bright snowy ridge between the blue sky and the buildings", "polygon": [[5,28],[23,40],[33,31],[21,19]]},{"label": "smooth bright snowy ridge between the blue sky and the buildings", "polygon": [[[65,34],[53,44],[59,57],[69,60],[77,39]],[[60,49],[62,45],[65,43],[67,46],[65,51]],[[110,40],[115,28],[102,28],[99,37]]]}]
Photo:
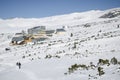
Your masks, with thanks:
[{"label": "smooth bright snowy ridge between the blue sky and the buildings", "polygon": [[[116,11],[115,11],[116,10]],[[14,32],[20,31],[20,30],[26,30],[33,26],[38,25],[46,25],[48,28],[61,26],[61,25],[74,25],[74,24],[80,24],[80,23],[86,23],[86,22],[94,22],[94,21],[100,21],[101,19],[98,19],[99,17],[104,17],[107,14],[109,16],[109,13],[112,13],[111,15],[117,15],[119,16],[119,8],[100,11],[100,10],[91,10],[87,12],[82,13],[72,13],[72,14],[66,14],[66,15],[60,15],[60,16],[52,16],[52,17],[46,17],[46,18],[13,18],[13,19],[1,19],[0,20],[0,32]],[[116,17],[116,16],[115,16]],[[109,17],[108,17],[109,18]],[[103,19],[102,19],[103,20]]]}]

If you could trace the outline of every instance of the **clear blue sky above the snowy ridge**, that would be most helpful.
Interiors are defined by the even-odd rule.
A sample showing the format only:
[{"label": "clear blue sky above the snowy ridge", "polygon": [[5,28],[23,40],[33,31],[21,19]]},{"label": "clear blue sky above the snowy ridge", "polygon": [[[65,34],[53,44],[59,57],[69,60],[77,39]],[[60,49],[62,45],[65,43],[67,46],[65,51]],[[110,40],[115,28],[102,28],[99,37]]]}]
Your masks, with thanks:
[{"label": "clear blue sky above the snowy ridge", "polygon": [[42,18],[120,7],[120,0],[0,0],[0,18]]}]

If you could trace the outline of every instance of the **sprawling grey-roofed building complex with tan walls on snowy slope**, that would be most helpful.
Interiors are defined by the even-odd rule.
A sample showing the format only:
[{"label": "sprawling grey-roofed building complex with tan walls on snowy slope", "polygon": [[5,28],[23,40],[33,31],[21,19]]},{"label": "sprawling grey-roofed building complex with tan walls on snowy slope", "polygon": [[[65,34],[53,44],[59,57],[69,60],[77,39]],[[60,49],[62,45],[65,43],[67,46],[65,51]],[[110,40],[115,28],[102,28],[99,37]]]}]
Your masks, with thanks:
[{"label": "sprawling grey-roofed building complex with tan walls on snowy slope", "polygon": [[49,37],[53,36],[53,34],[64,34],[65,32],[66,31],[63,28],[46,30],[45,26],[36,26],[28,29],[28,34],[26,34],[25,31],[16,33],[12,38],[11,43],[13,45],[21,45],[28,42],[38,43],[48,39]]}]

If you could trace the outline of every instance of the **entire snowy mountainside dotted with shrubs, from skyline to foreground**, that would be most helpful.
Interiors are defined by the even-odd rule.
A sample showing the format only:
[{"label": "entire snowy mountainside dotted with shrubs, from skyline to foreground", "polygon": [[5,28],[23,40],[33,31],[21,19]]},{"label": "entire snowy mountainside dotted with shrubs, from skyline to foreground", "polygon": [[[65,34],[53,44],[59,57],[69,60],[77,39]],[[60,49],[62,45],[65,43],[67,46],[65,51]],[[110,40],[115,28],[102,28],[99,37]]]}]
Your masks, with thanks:
[{"label": "entire snowy mountainside dotted with shrubs, from skyline to foreground", "polygon": [[[115,8],[42,19],[1,19],[0,30],[2,26],[5,30],[17,27],[20,29],[15,30],[19,32],[29,27],[46,25],[53,29],[66,26],[66,33],[54,35],[41,43],[18,46],[9,45],[13,31],[1,33],[0,80],[119,80],[119,11],[120,8]],[[111,12],[115,16],[107,15]],[[117,59],[116,64],[111,62],[114,57]],[[100,59],[109,62],[104,61],[100,65]],[[18,69],[16,62],[22,63],[21,69]],[[99,68],[103,68],[100,70],[104,72],[101,75]]]}]

